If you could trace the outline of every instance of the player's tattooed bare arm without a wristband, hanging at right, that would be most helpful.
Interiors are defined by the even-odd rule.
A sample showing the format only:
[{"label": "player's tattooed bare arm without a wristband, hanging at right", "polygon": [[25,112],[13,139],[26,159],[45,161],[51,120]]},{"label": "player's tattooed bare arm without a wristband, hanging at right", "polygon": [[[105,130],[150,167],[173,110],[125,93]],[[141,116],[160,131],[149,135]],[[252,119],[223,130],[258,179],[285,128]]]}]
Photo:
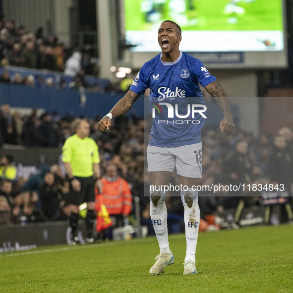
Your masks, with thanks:
[{"label": "player's tattooed bare arm without a wristband, hanging at right", "polygon": [[219,85],[215,81],[208,84],[205,87],[205,89],[215,98],[218,106],[221,108],[224,114],[224,118],[220,122],[220,129],[222,131],[228,131],[228,132],[232,131],[235,125],[233,123],[230,103],[224,91],[219,87]]}]

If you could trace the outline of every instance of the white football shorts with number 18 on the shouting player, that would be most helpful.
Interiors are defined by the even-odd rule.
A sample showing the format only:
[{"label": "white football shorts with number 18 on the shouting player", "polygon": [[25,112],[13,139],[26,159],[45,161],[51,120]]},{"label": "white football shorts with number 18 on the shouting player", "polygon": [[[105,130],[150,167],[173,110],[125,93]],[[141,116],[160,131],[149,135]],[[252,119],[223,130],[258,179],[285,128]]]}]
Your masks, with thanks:
[{"label": "white football shorts with number 18 on the shouting player", "polygon": [[201,142],[180,147],[147,147],[148,172],[169,171],[175,167],[177,174],[201,178]]}]

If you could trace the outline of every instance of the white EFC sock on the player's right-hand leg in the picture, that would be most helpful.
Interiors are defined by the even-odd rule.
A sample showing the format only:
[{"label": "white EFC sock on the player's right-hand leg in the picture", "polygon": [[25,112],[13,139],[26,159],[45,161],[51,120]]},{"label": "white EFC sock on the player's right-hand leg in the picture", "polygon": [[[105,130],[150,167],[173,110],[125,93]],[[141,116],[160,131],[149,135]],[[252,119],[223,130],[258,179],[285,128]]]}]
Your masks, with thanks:
[{"label": "white EFC sock on the player's right-hand leg in the picture", "polygon": [[184,223],[186,237],[186,257],[184,261],[195,262],[195,250],[197,244],[198,227],[200,222],[200,210],[198,206],[198,191],[188,188],[181,191],[181,200],[184,206]]}]

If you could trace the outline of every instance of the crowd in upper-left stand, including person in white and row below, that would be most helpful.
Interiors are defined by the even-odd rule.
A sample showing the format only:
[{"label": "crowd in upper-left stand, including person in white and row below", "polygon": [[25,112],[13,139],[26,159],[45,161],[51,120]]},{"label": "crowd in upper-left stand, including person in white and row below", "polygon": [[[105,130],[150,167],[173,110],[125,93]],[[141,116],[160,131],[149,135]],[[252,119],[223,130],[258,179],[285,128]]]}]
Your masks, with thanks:
[{"label": "crowd in upper-left stand, including person in white and row below", "polygon": [[[4,68],[0,82],[27,85],[31,87],[79,88],[90,86],[93,90],[112,90],[111,84],[100,89],[97,84],[88,85],[85,75],[97,76],[99,73],[98,59],[91,45],[83,48],[66,48],[53,34],[44,36],[43,29],[36,33],[27,32],[24,26],[15,27],[14,21],[0,21],[0,67]],[[59,71],[64,73],[57,80],[42,74],[13,72],[7,66],[44,69],[46,72]],[[6,68],[5,68],[6,67]],[[72,77],[65,82],[63,76]]]}]

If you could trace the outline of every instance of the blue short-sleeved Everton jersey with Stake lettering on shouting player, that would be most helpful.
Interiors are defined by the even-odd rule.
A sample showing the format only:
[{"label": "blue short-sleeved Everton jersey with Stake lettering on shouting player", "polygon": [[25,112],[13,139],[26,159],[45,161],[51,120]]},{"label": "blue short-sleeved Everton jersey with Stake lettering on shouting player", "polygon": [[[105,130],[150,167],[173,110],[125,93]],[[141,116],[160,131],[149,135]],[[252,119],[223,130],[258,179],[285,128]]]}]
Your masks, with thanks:
[{"label": "blue short-sleeved Everton jersey with Stake lettering on shouting player", "polygon": [[201,142],[206,106],[198,83],[205,87],[215,80],[200,60],[184,52],[174,62],[163,62],[159,54],[144,63],[130,90],[143,95],[151,89],[149,145],[177,147]]}]

